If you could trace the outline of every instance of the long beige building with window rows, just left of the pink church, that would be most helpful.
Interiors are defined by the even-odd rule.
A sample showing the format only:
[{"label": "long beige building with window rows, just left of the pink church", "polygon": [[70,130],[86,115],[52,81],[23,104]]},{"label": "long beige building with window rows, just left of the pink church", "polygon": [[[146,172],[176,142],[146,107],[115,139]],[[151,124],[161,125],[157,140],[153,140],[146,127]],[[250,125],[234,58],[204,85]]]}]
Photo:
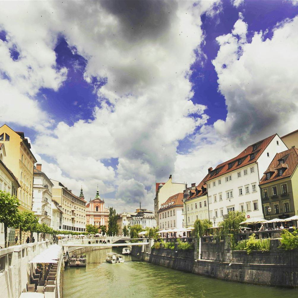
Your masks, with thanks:
[{"label": "long beige building with window rows, just left of the pink church", "polygon": [[61,206],[62,230],[85,232],[86,231],[86,201],[77,197],[61,182],[50,179],[52,187],[52,199]]}]

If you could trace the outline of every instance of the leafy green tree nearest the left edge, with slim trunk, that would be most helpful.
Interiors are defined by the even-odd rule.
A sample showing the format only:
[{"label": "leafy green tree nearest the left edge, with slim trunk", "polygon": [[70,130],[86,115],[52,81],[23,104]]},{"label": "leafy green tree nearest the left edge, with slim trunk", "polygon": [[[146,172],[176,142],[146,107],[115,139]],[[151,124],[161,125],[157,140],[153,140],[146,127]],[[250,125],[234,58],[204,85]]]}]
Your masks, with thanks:
[{"label": "leafy green tree nearest the left edge, with slim trunk", "polygon": [[15,225],[18,215],[18,199],[0,190],[0,222],[4,224],[4,246],[7,247],[7,228]]}]

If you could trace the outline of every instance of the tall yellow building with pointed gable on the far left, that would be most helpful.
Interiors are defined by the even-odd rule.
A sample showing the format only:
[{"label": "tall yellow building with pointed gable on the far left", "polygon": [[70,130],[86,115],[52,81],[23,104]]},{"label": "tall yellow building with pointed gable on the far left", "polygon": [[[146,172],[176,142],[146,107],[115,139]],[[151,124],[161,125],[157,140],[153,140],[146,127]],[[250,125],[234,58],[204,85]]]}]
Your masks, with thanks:
[{"label": "tall yellow building with pointed gable on the far left", "polygon": [[24,133],[13,131],[6,124],[0,127],[0,142],[5,145],[5,165],[18,179],[17,198],[19,199],[20,211],[31,211],[33,192],[33,168],[37,162],[31,152],[31,145]]}]

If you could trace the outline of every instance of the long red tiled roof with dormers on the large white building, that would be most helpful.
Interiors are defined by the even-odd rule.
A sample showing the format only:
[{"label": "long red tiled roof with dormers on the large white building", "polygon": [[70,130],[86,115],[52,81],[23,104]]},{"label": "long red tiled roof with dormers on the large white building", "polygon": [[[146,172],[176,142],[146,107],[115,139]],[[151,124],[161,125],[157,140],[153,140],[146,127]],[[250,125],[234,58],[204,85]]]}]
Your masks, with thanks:
[{"label": "long red tiled roof with dormers on the large white building", "polygon": [[[220,177],[222,175],[225,175],[229,172],[232,172],[236,169],[239,169],[241,167],[245,167],[249,164],[252,164],[253,162],[256,162],[259,156],[264,152],[268,144],[273,140],[273,138],[277,134],[274,134],[272,136],[268,136],[268,138],[263,139],[259,142],[256,142],[252,145],[249,145],[247,148],[245,148],[239,155],[236,157],[223,162],[219,164],[215,169],[213,169],[211,172],[214,172],[213,176],[211,176],[211,172],[207,175],[207,179],[205,181],[209,181],[213,178]],[[257,145],[256,150],[253,150],[253,145]],[[250,154],[254,153],[254,159],[250,159]],[[241,164],[238,165],[238,160],[241,159]],[[229,164],[232,163],[232,167],[229,168]],[[216,174],[216,170],[218,170],[218,174]]]}]

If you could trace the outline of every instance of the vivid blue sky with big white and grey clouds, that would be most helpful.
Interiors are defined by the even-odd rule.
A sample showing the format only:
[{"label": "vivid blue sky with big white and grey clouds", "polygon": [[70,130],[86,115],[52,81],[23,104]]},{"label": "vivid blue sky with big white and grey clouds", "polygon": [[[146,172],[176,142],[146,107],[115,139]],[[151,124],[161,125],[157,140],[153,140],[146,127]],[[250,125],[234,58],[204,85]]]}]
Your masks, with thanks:
[{"label": "vivid blue sky with big white and grey clouds", "polygon": [[117,212],[298,128],[298,1],[2,1],[0,124]]}]

